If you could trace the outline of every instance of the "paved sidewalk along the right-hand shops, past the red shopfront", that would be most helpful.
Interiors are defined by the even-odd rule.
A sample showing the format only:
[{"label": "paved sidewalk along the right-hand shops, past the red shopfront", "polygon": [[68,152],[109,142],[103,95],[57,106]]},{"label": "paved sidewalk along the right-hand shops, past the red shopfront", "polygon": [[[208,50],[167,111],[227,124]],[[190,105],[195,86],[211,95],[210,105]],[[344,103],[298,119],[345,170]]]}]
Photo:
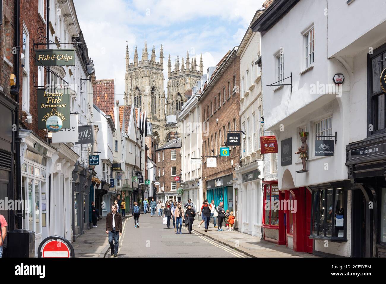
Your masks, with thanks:
[{"label": "paved sidewalk along the right-hand shops, past the red shopfront", "polygon": [[223,226],[223,231],[219,232],[217,228],[213,228],[213,223],[209,224],[209,230],[205,232],[204,224],[201,224],[201,228],[198,228],[199,223],[200,221],[194,221],[193,231],[245,253],[250,257],[316,257],[310,253],[294,252],[285,245],[276,245],[276,243],[271,243],[270,241],[260,240],[257,236],[251,236],[235,230],[226,231],[226,226]]}]

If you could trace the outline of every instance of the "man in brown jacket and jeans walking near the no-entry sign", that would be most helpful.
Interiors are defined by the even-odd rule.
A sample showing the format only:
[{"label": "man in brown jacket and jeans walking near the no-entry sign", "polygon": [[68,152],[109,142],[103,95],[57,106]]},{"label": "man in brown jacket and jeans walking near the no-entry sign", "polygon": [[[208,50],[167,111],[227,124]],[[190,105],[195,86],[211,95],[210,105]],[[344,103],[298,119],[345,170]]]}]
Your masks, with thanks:
[{"label": "man in brown jacket and jeans walking near the no-entry sign", "polygon": [[108,234],[111,255],[117,257],[119,236],[122,235],[122,216],[117,212],[118,206],[116,204],[111,206],[111,211],[106,216],[106,234]]}]

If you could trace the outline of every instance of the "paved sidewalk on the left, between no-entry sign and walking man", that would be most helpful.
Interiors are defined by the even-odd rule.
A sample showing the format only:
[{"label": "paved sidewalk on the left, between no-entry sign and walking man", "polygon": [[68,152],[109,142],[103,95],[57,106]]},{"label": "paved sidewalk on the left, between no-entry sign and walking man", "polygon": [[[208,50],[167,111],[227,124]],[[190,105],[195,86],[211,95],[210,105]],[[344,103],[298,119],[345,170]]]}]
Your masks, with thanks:
[{"label": "paved sidewalk on the left, between no-entry sign and walking man", "polygon": [[[122,223],[126,218],[130,216],[122,217]],[[105,257],[110,245],[108,244],[108,235],[105,231],[106,219],[98,221],[98,228],[92,228],[87,230],[84,235],[76,238],[76,241],[72,243],[75,251],[75,257]]]}]

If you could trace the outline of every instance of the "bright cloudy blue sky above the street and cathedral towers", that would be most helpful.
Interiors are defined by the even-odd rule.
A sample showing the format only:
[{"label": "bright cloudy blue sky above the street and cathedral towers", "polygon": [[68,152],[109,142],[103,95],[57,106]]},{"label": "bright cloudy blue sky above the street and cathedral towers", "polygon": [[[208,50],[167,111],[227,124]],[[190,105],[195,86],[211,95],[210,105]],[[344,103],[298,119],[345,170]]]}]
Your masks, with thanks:
[{"label": "bright cloudy blue sky above the street and cathedral towers", "polygon": [[[153,45],[159,61],[164,49],[164,89],[167,84],[168,55],[186,60],[203,55],[204,73],[217,65],[228,50],[238,46],[256,10],[264,0],[74,0],[76,14],[95,63],[97,79],[115,79],[120,104],[125,88],[125,52],[130,60],[137,46],[138,58],[147,41],[149,59]],[[188,5],[187,5],[188,4]]]}]

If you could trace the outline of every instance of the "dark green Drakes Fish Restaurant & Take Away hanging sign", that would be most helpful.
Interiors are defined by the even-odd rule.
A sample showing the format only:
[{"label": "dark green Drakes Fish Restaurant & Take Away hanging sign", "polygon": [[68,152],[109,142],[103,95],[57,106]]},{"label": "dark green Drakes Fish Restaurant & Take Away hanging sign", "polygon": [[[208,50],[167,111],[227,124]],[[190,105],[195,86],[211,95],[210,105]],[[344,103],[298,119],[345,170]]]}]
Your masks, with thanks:
[{"label": "dark green Drakes Fish Restaurant & Take Away hanging sign", "polygon": [[69,88],[37,89],[38,128],[58,132],[70,128]]}]

